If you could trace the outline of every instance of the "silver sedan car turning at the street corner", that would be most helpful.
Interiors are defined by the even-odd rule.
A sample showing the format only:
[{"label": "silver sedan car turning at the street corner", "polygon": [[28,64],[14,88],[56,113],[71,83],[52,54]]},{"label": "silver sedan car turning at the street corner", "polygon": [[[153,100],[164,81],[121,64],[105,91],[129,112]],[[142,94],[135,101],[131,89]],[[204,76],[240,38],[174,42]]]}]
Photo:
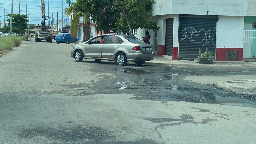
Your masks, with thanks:
[{"label": "silver sedan car turning at the street corner", "polygon": [[123,34],[104,34],[96,36],[87,42],[73,46],[71,57],[78,62],[83,59],[116,61],[117,65],[126,65],[134,61],[143,65],[145,61],[153,60],[153,46],[140,39]]}]

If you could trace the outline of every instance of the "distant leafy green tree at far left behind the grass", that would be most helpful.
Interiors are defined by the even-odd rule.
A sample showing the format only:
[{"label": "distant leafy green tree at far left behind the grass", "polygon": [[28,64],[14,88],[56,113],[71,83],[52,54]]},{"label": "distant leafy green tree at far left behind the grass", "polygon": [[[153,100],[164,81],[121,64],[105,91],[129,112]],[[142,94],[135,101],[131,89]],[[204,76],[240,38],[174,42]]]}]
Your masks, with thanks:
[{"label": "distant leafy green tree at far left behind the grass", "polygon": [[[11,14],[6,15],[11,18]],[[10,23],[11,19],[7,19],[7,21]],[[26,32],[27,28],[27,22],[28,22],[28,17],[27,15],[19,15],[19,14],[14,14],[12,16],[12,32],[16,34],[24,34]]]}]

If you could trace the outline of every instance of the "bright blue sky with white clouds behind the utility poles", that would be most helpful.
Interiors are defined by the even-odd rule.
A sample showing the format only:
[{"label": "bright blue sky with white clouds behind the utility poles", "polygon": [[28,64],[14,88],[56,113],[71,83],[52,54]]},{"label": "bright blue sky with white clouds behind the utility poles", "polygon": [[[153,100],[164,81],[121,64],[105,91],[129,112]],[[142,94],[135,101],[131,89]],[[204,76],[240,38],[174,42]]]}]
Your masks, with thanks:
[{"label": "bright blue sky with white clouds behind the utility poles", "polygon": [[[75,0],[72,0],[75,1]],[[27,5],[27,13],[29,14],[29,18],[31,19],[31,23],[40,24],[41,22],[41,0],[20,0],[20,14],[26,14],[26,2]],[[11,13],[11,3],[12,0],[0,0],[0,21],[3,21],[4,16],[4,8],[5,8],[5,17],[7,14]],[[66,0],[63,0],[63,19],[67,18],[65,15],[65,7],[67,7]],[[45,0],[45,8],[46,8],[46,15],[48,16],[48,0]],[[25,11],[25,12],[24,12]],[[54,21],[57,20],[57,12],[59,15],[59,19],[62,18],[62,0],[50,0],[50,23],[52,21],[52,13],[54,17]],[[14,0],[13,4],[13,13],[19,14],[19,0]],[[7,17],[5,18],[7,20]]]}]

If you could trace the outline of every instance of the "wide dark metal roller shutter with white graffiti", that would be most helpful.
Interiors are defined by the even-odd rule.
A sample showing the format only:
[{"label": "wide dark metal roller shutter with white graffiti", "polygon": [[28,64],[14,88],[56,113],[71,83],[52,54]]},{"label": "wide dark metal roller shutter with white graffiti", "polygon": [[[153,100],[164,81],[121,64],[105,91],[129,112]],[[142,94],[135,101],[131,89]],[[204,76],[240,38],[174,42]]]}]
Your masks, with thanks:
[{"label": "wide dark metal roller shutter with white graffiti", "polygon": [[198,59],[199,48],[213,52],[215,57],[218,16],[179,17],[179,59]]}]

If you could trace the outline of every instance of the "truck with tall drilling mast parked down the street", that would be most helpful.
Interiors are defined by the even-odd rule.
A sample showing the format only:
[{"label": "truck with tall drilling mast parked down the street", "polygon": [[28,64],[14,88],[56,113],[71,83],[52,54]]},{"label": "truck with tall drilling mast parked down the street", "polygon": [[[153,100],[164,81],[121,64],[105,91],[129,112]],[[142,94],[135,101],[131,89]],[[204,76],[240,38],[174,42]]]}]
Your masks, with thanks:
[{"label": "truck with tall drilling mast parked down the street", "polygon": [[42,22],[41,25],[36,25],[35,26],[35,41],[40,42],[40,41],[47,41],[47,42],[52,42],[52,29],[50,24],[45,24],[45,20],[48,20],[50,18],[49,15],[49,8],[48,8],[48,19],[46,18],[45,15],[45,0],[41,0],[41,10],[42,10]]}]

